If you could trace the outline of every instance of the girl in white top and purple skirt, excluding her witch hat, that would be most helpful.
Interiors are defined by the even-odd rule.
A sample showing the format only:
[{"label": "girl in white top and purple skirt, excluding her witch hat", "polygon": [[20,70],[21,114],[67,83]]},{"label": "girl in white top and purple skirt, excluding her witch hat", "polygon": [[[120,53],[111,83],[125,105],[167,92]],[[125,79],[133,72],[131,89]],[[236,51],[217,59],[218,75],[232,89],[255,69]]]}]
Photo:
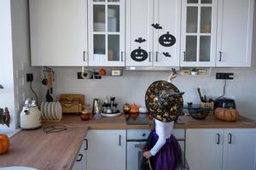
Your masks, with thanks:
[{"label": "girl in white top and purple skirt, excluding her witch hat", "polygon": [[[177,73],[172,72],[168,77],[168,82],[172,82],[175,77],[177,77]],[[189,169],[186,161],[184,161],[183,152],[177,143],[177,139],[172,135],[173,125],[173,121],[160,122],[154,119],[154,130],[151,132],[147,144],[149,150],[143,152],[146,159],[150,158],[152,160],[151,165],[149,165],[149,167],[151,166],[150,169]],[[186,163],[186,166],[183,165],[184,163]]]}]

